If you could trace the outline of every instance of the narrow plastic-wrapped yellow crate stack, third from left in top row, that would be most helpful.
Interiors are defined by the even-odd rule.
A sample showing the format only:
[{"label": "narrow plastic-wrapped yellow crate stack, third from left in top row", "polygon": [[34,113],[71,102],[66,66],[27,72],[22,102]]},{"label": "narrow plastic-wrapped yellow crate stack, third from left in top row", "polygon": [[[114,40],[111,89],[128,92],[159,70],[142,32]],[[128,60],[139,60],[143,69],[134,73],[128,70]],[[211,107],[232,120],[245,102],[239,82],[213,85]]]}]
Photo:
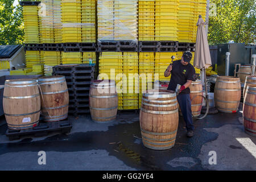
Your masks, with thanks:
[{"label": "narrow plastic-wrapped yellow crate stack, third from left in top row", "polygon": [[61,0],[53,0],[53,19],[54,19],[54,41],[62,42],[61,35]]}]

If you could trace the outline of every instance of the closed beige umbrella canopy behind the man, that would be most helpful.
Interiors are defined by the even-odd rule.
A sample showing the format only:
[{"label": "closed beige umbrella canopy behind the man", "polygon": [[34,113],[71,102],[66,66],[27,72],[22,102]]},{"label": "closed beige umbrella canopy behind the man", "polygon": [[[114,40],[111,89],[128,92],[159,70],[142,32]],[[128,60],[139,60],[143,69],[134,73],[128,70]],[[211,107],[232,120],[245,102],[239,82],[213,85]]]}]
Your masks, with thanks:
[{"label": "closed beige umbrella canopy behind the man", "polygon": [[194,57],[194,66],[196,68],[207,69],[212,65],[212,60],[210,59],[210,49],[207,40],[207,35],[204,28],[204,20],[199,15],[199,20],[197,21],[197,34],[196,34],[196,50]]}]

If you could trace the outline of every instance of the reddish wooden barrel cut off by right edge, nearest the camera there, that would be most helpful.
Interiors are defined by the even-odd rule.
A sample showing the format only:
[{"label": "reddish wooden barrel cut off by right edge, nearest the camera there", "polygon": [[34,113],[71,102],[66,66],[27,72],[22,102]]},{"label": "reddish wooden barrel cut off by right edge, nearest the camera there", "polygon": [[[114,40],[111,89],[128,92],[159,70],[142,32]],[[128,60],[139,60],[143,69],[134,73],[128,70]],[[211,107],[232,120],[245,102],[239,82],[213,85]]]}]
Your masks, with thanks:
[{"label": "reddish wooden barrel cut off by right edge, nearest the camera there", "polygon": [[243,100],[243,126],[245,132],[256,137],[256,85],[248,85]]}]

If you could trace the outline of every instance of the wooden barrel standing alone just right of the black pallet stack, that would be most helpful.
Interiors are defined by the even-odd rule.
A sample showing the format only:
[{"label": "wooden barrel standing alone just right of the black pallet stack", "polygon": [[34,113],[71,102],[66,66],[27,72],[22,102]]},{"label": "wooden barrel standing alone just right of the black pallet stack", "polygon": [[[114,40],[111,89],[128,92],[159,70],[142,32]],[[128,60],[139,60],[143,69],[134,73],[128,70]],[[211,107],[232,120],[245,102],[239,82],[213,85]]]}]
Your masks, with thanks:
[{"label": "wooden barrel standing alone just right of the black pallet stack", "polygon": [[115,121],[118,109],[118,96],[114,80],[96,80],[90,85],[90,115],[97,123]]}]

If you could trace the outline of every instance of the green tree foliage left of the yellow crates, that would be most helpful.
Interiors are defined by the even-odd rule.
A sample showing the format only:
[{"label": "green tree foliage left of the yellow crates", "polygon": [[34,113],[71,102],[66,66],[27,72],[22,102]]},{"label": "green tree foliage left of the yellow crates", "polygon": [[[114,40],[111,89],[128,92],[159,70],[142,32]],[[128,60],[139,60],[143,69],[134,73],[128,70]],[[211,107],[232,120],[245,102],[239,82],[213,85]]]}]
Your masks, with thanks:
[{"label": "green tree foliage left of the yellow crates", "polygon": [[22,44],[24,39],[22,7],[14,0],[0,0],[0,44]]}]

